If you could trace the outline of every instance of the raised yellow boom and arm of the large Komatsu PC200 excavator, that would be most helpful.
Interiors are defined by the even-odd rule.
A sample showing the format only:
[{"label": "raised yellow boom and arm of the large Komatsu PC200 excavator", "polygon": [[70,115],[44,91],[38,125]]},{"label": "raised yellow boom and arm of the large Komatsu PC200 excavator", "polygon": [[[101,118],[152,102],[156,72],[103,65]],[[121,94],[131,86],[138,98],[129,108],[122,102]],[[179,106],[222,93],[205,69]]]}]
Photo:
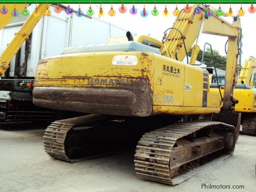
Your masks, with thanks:
[{"label": "raised yellow boom and arm of the large Komatsu PC200 excavator", "polygon": [[[237,74],[237,57],[238,57],[238,40],[241,36],[240,18],[234,17],[233,23],[229,23],[219,16],[213,14],[211,17],[206,16],[207,8],[200,5],[201,14],[195,14],[194,10],[197,5],[191,7],[190,13],[185,13],[184,10],[179,13],[170,32],[165,32],[163,37],[163,45],[160,49],[163,56],[182,61],[186,56],[185,46],[187,51],[192,47],[201,33],[226,36],[228,37],[228,54],[226,60],[226,76],[225,90],[223,97],[222,110],[233,110],[231,103],[233,99],[233,89],[236,84]],[[213,13],[216,10],[211,9]],[[166,30],[167,31],[167,30]],[[184,45],[185,44],[185,45]],[[197,44],[197,43],[196,43]],[[195,47],[196,46],[196,47]],[[190,64],[195,62],[199,46],[195,45],[191,56]]]}]

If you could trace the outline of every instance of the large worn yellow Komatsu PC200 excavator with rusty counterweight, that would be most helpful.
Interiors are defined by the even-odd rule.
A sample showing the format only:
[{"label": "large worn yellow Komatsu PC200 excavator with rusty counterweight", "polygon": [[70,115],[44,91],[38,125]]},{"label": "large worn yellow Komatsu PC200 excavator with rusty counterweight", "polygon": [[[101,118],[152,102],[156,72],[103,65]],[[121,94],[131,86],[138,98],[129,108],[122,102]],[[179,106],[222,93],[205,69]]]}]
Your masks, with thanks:
[{"label": "large worn yellow Komatsu PC200 excavator with rusty counterweight", "polygon": [[[139,135],[148,129],[141,133],[136,147],[136,174],[169,185],[186,180],[175,177],[220,154],[231,155],[241,118],[234,112],[232,95],[240,18],[234,17],[231,24],[215,14],[208,17],[204,5],[200,5],[201,14],[195,14],[196,8],[193,5],[190,13],[179,13],[173,27],[166,30],[160,50],[157,41],[144,36],[136,42],[128,32],[128,41],[121,38],[120,42],[65,48],[61,55],[40,60],[34,104],[91,113],[49,125],[44,134],[45,151],[72,162],[97,152],[96,147],[105,147],[107,142],[102,141],[113,134],[121,142],[127,135],[124,132],[133,129]],[[228,37],[221,109],[219,95],[209,91],[208,71],[193,66],[193,61],[181,62],[201,33]],[[196,54],[194,51],[191,58]],[[199,115],[209,113],[211,121],[198,121]],[[86,128],[77,128],[81,126]],[[118,129],[108,132],[106,127],[113,126]]]}]

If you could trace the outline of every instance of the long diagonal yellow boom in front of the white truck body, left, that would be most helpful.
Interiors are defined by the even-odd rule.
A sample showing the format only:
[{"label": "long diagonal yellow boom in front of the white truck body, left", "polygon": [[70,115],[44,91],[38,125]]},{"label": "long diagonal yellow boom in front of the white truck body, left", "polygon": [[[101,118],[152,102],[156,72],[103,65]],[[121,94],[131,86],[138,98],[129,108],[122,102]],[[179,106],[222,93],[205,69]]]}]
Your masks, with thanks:
[{"label": "long diagonal yellow boom in front of the white truck body, left", "polygon": [[[49,4],[48,4],[49,5]],[[45,9],[47,4],[40,4],[38,5],[38,16],[34,16],[33,13],[28,17],[26,22],[21,27],[18,33],[15,33],[14,38],[7,46],[7,48],[3,51],[2,55],[0,56],[0,76],[4,74],[4,72],[9,68],[9,64],[13,58],[13,56],[18,52],[21,48],[24,41],[28,38],[31,34],[33,28],[36,26],[38,21],[44,15]]]}]

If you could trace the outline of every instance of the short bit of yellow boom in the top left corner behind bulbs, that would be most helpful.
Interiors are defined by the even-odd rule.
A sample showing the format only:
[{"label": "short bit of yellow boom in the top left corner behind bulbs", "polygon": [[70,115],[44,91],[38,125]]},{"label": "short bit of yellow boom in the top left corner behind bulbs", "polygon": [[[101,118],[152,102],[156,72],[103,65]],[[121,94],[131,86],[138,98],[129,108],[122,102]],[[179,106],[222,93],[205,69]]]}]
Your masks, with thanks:
[{"label": "short bit of yellow boom in the top left corner behind bulbs", "polygon": [[[14,4],[5,5],[8,8],[9,13],[0,14],[0,30],[4,28],[8,23],[10,23],[15,17],[13,17],[10,12],[14,9]],[[21,12],[25,7],[25,4],[15,4],[17,11]]]}]

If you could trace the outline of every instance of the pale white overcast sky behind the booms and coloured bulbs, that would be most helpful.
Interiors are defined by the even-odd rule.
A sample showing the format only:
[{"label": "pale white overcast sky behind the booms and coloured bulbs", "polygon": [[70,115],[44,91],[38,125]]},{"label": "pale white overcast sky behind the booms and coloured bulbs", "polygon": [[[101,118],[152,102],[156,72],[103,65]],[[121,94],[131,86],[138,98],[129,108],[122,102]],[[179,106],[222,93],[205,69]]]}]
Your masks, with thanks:
[{"label": "pale white overcast sky behind the booms and coloured bulbs", "polygon": [[[97,11],[99,7],[99,4],[92,4],[92,8],[95,10],[95,14],[93,17],[97,17]],[[140,15],[140,10],[143,9],[143,4],[135,4],[135,6],[138,8],[138,13],[136,15],[132,15],[129,12],[130,7],[132,7],[132,4],[125,4],[127,7],[126,13],[120,13],[118,11],[118,7],[120,4],[113,4],[113,8],[116,10],[116,15],[111,17],[107,14],[107,11],[110,9],[111,4],[102,4],[102,8],[105,11],[105,15],[101,17],[102,20],[106,22],[110,22],[114,25],[117,25],[121,28],[127,29],[133,33],[137,33],[139,35],[148,35],[150,34],[151,37],[154,37],[158,40],[162,40],[163,32],[169,28],[172,27],[173,22],[175,21],[175,16],[172,14],[173,9],[175,9],[175,4],[167,4],[167,9],[170,13],[169,16],[164,17],[162,15],[162,11],[165,8],[165,4],[156,4],[156,8],[160,10],[160,13],[158,16],[151,15],[151,10],[154,7],[154,4],[146,4],[145,8],[149,11],[149,15],[147,17],[142,17]],[[181,10],[185,4],[178,4],[178,9]],[[218,9],[219,4],[211,4],[212,7],[215,9]],[[222,10],[225,12],[229,10],[229,4],[221,4]],[[256,19],[256,12],[255,13],[249,13],[248,7],[250,4],[243,4],[242,7],[246,11],[245,15],[241,17],[241,25],[243,28],[243,54],[242,54],[242,62],[249,58],[249,56],[255,56],[256,57],[256,50],[255,50],[255,19]],[[78,4],[72,4],[74,10],[78,9]],[[81,4],[81,9],[86,11],[88,9],[89,5],[87,4]],[[240,9],[240,4],[232,4],[231,5],[233,13],[237,13],[237,10]],[[225,20],[232,22],[232,17],[223,17]],[[205,42],[208,42],[212,45],[213,49],[216,49],[220,52],[221,55],[225,55],[224,45],[227,40],[227,37],[220,37],[220,36],[213,36],[213,35],[207,35],[202,34],[199,40],[199,46],[201,49],[203,49],[203,45]]]}]

